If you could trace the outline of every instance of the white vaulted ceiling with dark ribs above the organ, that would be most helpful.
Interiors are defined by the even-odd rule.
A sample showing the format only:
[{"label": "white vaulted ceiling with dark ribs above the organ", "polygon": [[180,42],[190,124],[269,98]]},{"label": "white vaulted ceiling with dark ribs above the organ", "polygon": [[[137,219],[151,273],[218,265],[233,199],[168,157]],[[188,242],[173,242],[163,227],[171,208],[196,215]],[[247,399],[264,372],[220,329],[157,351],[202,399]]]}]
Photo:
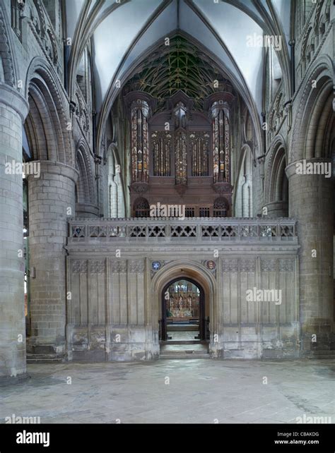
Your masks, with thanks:
[{"label": "white vaulted ceiling with dark ribs above the organ", "polygon": [[[276,35],[283,40],[276,52],[283,73],[286,92],[290,92],[288,18],[290,0],[66,0],[68,35],[73,44],[70,55],[70,92],[74,90],[76,68],[88,40],[92,40],[95,76],[96,109],[100,118],[107,117],[118,94],[117,81],[124,84],[142,59],[164,43],[165,37],[180,32],[198,42],[215,56],[221,73],[225,73],[245,99],[254,119],[262,109],[264,48],[248,47],[247,37]],[[189,58],[194,71],[181,68]],[[155,69],[163,75],[162,90],[170,92],[178,84],[192,92],[194,77],[207,78],[206,68],[195,69],[195,61],[171,54],[179,74],[164,68],[163,61]],[[166,63],[166,60],[165,60]],[[149,68],[142,80],[148,80]],[[177,71],[178,72],[178,71]],[[195,73],[194,73],[195,72]],[[151,73],[151,76],[154,74]],[[189,78],[189,81],[186,80]],[[166,84],[169,80],[169,84]],[[180,80],[180,81],[179,81]],[[157,83],[155,83],[157,85]],[[205,83],[204,90],[208,85]],[[151,90],[151,88],[147,89]],[[154,88],[152,89],[154,91]]]}]

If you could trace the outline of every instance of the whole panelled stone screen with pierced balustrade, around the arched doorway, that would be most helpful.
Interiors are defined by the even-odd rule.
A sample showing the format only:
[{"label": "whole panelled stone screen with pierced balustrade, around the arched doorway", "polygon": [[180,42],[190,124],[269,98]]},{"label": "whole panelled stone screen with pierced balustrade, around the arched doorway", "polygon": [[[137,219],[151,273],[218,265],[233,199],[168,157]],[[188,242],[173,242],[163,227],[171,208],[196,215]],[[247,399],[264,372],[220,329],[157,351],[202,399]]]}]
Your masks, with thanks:
[{"label": "whole panelled stone screen with pierced balustrade, around the arched doorway", "polygon": [[[164,224],[173,225],[172,219],[155,222],[161,222],[160,232]],[[186,229],[188,222],[178,224]],[[294,222],[281,219],[281,224],[265,227],[266,222],[253,220],[247,236],[233,237],[204,236],[201,222],[206,231],[209,224],[224,229],[218,219],[192,222],[198,222],[202,234],[146,235],[146,227],[154,228],[150,219],[71,221],[66,247],[69,360],[158,358],[162,291],[176,276],[191,277],[204,287],[213,358],[299,356],[298,241],[293,230],[292,235],[283,234],[283,224],[294,229]],[[225,222],[238,224],[241,219]],[[257,222],[266,236],[256,237]],[[134,237],[134,231],[139,236]],[[152,267],[155,260],[160,263],[157,271]],[[208,270],[207,260],[216,262],[215,270]],[[276,293],[278,303],[275,298],[254,300],[258,290],[260,299],[266,299],[266,290],[281,291]]]}]

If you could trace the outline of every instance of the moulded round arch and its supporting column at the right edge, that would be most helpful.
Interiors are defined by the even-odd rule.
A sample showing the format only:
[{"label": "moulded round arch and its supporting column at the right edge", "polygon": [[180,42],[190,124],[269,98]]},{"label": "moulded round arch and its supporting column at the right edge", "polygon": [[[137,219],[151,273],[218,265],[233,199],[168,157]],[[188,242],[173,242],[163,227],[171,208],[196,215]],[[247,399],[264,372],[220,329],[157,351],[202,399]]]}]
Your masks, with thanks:
[{"label": "moulded round arch and its supporting column at the right edge", "polygon": [[[298,221],[300,237],[301,355],[327,349],[334,337],[334,186],[331,181],[331,133],[334,130],[333,65],[329,56],[315,61],[304,79],[290,140],[289,215]],[[311,171],[306,171],[308,167]],[[305,168],[305,169],[304,169]],[[312,191],[311,191],[312,188]],[[308,209],[306,209],[306,206]],[[313,228],[310,227],[313,226]],[[315,249],[318,259],[310,259]],[[310,286],[310,276],[316,275]],[[311,343],[313,331],[322,325],[323,336]],[[327,326],[327,327],[325,327]]]}]

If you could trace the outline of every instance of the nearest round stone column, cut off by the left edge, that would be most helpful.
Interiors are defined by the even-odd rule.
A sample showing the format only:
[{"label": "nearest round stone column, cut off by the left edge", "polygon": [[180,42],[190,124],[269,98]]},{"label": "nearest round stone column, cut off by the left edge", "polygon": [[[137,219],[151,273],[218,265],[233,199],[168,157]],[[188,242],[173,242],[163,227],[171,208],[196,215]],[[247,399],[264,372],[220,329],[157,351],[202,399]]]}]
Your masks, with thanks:
[{"label": "nearest round stone column, cut off by the left edge", "polygon": [[25,265],[20,164],[22,127],[28,109],[27,102],[16,90],[0,83],[0,382],[5,383],[25,376]]}]

